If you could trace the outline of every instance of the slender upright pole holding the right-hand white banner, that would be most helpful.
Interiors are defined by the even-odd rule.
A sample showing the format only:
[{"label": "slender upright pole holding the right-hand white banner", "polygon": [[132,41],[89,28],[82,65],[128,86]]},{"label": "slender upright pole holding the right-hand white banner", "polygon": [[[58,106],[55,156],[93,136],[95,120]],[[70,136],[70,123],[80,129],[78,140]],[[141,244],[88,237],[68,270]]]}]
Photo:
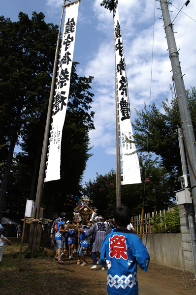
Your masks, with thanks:
[{"label": "slender upright pole holding the right-hand white banner", "polygon": [[[113,20],[115,12],[113,10]],[[114,23],[114,52],[115,52],[115,102],[116,102],[116,207],[121,206],[121,155],[120,155],[120,130],[119,130],[119,101],[118,101],[118,80],[116,68],[115,49],[115,23]]]}]

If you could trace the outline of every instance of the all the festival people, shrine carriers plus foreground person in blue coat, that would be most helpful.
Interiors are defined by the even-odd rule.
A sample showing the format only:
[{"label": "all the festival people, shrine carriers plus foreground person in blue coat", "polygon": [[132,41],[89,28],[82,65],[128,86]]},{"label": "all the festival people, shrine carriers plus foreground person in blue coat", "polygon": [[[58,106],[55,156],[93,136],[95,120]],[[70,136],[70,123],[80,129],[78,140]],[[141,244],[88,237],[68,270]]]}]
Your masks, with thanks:
[{"label": "all the festival people, shrine carriers plus foreground person in blue coat", "polygon": [[73,259],[75,252],[80,266],[87,265],[85,254],[92,255],[92,270],[99,264],[102,270],[108,269],[107,295],[138,295],[136,265],[147,271],[150,257],[131,224],[130,209],[117,207],[112,222],[99,215],[95,223],[83,222],[78,230],[71,225],[64,212],[52,225],[50,237],[52,242],[56,241],[57,263],[64,264],[64,251],[68,259]]}]

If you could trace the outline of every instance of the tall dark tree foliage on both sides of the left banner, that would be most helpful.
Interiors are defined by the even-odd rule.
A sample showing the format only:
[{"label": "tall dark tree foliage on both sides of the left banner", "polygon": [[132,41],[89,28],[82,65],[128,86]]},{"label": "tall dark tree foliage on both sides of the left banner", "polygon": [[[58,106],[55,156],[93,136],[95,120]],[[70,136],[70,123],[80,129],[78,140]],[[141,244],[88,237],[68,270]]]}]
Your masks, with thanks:
[{"label": "tall dark tree foliage on both sides of the left banner", "polygon": [[[33,12],[31,20],[21,12],[15,23],[1,17],[0,33],[0,145],[4,145],[0,163],[7,162],[14,132],[14,146],[17,143],[22,150],[13,159],[13,152],[11,155],[4,207],[7,212],[24,212],[26,198],[35,200],[58,26],[46,24],[43,13]],[[61,180],[44,185],[42,206],[49,217],[53,208],[62,211],[66,194],[81,194],[82,175],[91,156],[88,132],[95,128],[90,86],[93,77],[78,76],[77,64],[73,62],[70,77]],[[0,167],[1,185],[4,166]],[[17,219],[17,213],[14,217]]]}]

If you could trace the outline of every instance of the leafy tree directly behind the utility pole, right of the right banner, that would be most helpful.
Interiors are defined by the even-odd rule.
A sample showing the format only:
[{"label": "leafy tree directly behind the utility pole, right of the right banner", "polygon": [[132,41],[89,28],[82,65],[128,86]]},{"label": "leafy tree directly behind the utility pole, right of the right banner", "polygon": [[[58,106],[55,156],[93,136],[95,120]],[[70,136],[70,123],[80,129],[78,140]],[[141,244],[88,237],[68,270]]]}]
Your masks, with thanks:
[{"label": "leafy tree directly behind the utility pole, right of the right banner", "polygon": [[[173,170],[182,174],[180,151],[178,145],[178,127],[180,120],[178,116],[177,103],[171,88],[172,100],[170,104],[168,99],[162,102],[164,114],[157,109],[153,103],[150,113],[144,104],[144,109],[136,111],[137,118],[135,119],[134,127],[134,142],[139,152],[146,151],[147,134],[148,134],[148,119],[149,119],[149,135],[148,135],[148,150],[155,153],[161,159],[167,172]],[[196,89],[187,90],[189,105],[192,106],[191,116],[196,131]]]}]

